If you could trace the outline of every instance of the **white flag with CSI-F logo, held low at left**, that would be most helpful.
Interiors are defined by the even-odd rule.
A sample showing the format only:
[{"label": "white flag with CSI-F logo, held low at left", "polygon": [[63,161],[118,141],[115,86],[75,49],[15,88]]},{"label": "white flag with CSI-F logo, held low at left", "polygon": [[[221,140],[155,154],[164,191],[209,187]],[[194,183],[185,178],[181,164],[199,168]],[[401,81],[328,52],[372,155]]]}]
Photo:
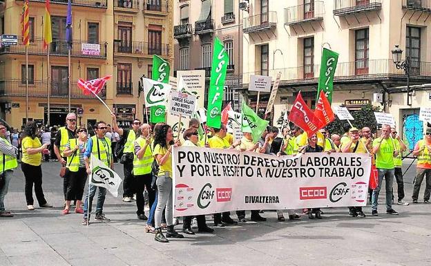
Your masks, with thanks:
[{"label": "white flag with CSI-F logo, held low at left", "polygon": [[90,160],[90,177],[88,178],[89,184],[97,187],[104,187],[114,196],[118,196],[119,184],[122,179],[115,171],[106,166],[101,160],[97,159],[93,154]]}]

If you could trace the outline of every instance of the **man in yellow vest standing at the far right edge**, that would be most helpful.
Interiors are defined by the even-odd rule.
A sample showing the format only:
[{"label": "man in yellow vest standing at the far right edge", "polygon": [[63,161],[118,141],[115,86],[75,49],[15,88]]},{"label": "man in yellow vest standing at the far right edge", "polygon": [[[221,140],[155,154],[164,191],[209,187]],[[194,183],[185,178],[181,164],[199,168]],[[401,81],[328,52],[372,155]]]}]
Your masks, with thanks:
[{"label": "man in yellow vest standing at the far right edge", "polygon": [[413,203],[417,203],[419,198],[419,190],[423,177],[425,176],[425,193],[423,194],[423,202],[430,203],[431,194],[431,128],[428,127],[425,131],[425,140],[419,140],[414,146],[413,155],[417,156],[418,162],[416,165],[416,178],[413,185]]}]

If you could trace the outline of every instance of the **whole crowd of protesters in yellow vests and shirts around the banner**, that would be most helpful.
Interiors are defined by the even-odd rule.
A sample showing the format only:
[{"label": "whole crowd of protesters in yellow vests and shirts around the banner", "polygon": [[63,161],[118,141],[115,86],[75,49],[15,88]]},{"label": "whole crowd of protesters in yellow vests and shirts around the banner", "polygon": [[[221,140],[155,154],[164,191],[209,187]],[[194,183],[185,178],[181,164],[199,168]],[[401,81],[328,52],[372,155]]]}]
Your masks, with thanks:
[{"label": "whole crowd of protesters in yellow vests and shirts around the banner", "polygon": [[[12,171],[18,167],[21,160],[21,169],[25,177],[25,195],[28,210],[34,210],[33,186],[39,207],[52,207],[44,196],[42,188],[41,161],[55,160],[61,164],[61,176],[64,187],[64,209],[62,214],[67,215],[71,206],[75,205],[75,213],[84,215],[83,225],[90,222],[93,198],[97,191],[97,204],[95,220],[110,221],[104,215],[103,207],[106,198],[106,189],[89,185],[88,193],[84,198],[84,187],[90,169],[90,155],[98,156],[107,167],[119,160],[124,167],[123,201],[135,200],[137,218],[147,220],[145,231],[155,234],[155,240],[169,242],[167,238],[182,238],[182,234],[175,231],[178,222],[173,218],[173,180],[172,180],[172,149],[174,146],[202,146],[211,149],[237,149],[265,153],[274,156],[295,155],[297,153],[369,153],[372,164],[376,168],[376,187],[370,191],[372,215],[377,216],[379,192],[383,178],[385,179],[386,213],[396,215],[392,208],[394,195],[392,183],[396,180],[398,195],[397,205],[409,205],[405,202],[403,186],[402,153],[407,146],[396,132],[396,129],[383,125],[381,135],[377,136],[368,127],[356,129],[345,124],[343,135],[330,135],[325,129],[308,136],[302,129],[294,126],[290,129],[279,129],[268,126],[262,133],[258,142],[253,142],[251,133],[243,133],[241,140],[233,141],[233,135],[228,133],[227,126],[221,124],[220,129],[207,129],[204,137],[200,137],[198,130],[200,122],[191,119],[189,128],[182,135],[184,142],[174,140],[171,126],[164,123],[142,124],[135,119],[131,129],[120,129],[117,126],[115,115],[112,115],[113,126],[99,121],[91,126],[77,126],[75,113],[66,116],[65,126],[46,126],[40,129],[35,122],[29,122],[18,132],[17,129],[8,131],[6,126],[0,124],[0,154],[2,155],[1,182],[0,182],[0,217],[12,217],[6,211],[4,198],[8,193],[8,184],[12,178]],[[91,131],[91,132],[90,132]],[[22,156],[20,155],[20,151]],[[426,129],[425,137],[416,143],[413,155],[417,156],[416,177],[412,203],[419,200],[421,183],[425,178],[425,193],[423,202],[430,202],[431,194],[431,128]],[[22,158],[21,158],[22,157]],[[145,215],[144,206],[146,198],[149,204],[149,216]],[[300,219],[294,210],[286,210],[289,220]],[[286,220],[284,210],[276,210],[280,221]],[[319,208],[304,209],[303,213],[309,219],[321,219],[323,211]],[[236,211],[238,222],[247,222],[245,210]],[[361,207],[349,207],[349,216],[365,217]],[[252,210],[250,220],[262,222],[267,218],[260,215],[260,211]],[[213,214],[213,225],[224,227],[238,224],[231,218],[229,211]],[[213,229],[207,225],[205,216],[187,216],[183,218],[182,232],[195,234],[198,232],[212,233]],[[166,229],[166,235],[162,229]]]}]

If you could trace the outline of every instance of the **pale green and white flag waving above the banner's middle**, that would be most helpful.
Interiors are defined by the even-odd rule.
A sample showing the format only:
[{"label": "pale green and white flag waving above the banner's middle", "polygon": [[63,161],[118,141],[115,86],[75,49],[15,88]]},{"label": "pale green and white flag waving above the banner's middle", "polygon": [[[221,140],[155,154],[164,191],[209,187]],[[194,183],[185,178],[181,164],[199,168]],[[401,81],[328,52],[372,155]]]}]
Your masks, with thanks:
[{"label": "pale green and white flag waving above the banner's middle", "polygon": [[258,115],[245,104],[245,101],[242,101],[241,116],[241,131],[251,133],[253,142],[257,142],[262,136],[263,131],[267,129],[269,122],[258,117]]}]

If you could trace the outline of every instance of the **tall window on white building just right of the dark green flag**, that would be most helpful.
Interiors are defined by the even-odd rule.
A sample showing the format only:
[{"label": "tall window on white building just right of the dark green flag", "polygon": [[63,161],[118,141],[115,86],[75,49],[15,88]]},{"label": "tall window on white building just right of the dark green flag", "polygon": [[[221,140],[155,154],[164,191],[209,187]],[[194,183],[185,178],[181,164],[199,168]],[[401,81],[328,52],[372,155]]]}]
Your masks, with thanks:
[{"label": "tall window on white building just right of the dark green flag", "polygon": [[355,74],[368,74],[368,28],[355,31]]}]

